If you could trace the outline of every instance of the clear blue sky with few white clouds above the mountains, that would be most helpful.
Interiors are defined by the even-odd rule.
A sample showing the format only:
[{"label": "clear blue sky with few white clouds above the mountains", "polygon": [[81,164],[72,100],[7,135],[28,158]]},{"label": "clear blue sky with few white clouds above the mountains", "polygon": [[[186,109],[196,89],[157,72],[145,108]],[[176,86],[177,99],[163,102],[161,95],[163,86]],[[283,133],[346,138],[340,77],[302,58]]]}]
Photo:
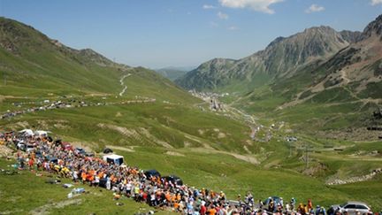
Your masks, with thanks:
[{"label": "clear blue sky with few white clouds above the mountains", "polygon": [[0,0],[0,16],[149,68],[244,58],[308,27],[362,31],[382,0]]}]

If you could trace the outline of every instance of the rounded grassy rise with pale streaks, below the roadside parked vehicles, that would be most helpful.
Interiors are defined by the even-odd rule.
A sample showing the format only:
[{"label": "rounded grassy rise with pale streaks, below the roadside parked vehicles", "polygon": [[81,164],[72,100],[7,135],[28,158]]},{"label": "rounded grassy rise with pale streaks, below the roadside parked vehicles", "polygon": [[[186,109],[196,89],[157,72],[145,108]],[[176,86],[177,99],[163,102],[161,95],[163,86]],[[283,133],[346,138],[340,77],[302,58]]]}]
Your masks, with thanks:
[{"label": "rounded grassy rise with pale streaks, below the roadside parked vehicles", "polygon": [[159,102],[42,111],[3,120],[0,124],[4,129],[21,128],[18,121],[77,142],[122,146],[157,146],[155,137],[175,148],[207,144],[218,150],[243,152],[241,144],[249,139],[249,128],[241,122],[194,107]]}]

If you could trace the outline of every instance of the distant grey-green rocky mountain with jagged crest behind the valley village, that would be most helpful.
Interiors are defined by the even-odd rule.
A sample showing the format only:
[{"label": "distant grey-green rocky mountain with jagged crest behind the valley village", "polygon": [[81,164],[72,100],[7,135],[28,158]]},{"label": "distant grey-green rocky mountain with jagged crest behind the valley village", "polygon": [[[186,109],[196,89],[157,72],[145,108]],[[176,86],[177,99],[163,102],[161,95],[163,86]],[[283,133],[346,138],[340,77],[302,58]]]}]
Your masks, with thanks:
[{"label": "distant grey-green rocky mountain with jagged crest behind the valley village", "polygon": [[331,27],[311,27],[287,38],[279,37],[265,50],[239,60],[213,59],[175,82],[183,88],[226,89],[235,86],[256,88],[276,78],[290,77],[313,62],[330,58],[348,46]]}]

